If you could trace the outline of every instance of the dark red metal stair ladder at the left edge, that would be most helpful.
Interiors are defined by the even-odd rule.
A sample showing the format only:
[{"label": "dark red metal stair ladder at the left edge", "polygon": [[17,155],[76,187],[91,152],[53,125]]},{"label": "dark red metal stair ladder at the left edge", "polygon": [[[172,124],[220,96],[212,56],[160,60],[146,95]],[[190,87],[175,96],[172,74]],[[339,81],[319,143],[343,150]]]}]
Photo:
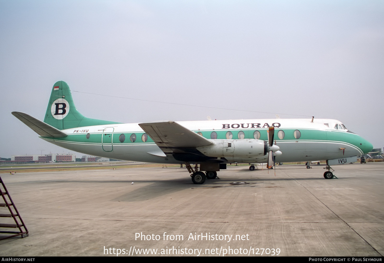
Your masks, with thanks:
[{"label": "dark red metal stair ladder at the left edge", "polygon": [[[0,182],[1,182],[1,186],[0,186],[0,194],[1,196],[3,197],[3,200],[4,200],[4,203],[2,203],[1,199],[0,199],[0,207],[8,207],[8,212],[9,213],[4,213],[4,208],[1,209],[0,211],[0,218],[13,218],[13,220],[15,220],[15,223],[16,224],[3,224],[3,223],[0,223],[0,228],[18,228],[19,231],[3,231],[3,230],[0,230],[0,233],[5,233],[5,234],[13,234],[13,235],[10,235],[10,236],[5,236],[5,237],[1,237],[0,236],[0,240],[3,240],[3,239],[6,239],[6,238],[11,238],[13,236],[18,236],[18,235],[21,235],[22,238],[25,238],[28,236],[28,230],[26,229],[25,227],[25,224],[19,214],[19,212],[17,211],[17,208],[15,206],[15,203],[13,203],[12,201],[12,198],[11,196],[9,195],[9,192],[7,190],[7,188],[5,187],[4,185],[4,182],[2,180],[2,178],[0,177]],[[7,198],[8,196],[8,198]],[[9,199],[9,201],[8,201]],[[12,209],[12,206],[13,206],[13,209]],[[13,210],[15,211],[15,213],[13,212]],[[3,214],[4,213],[4,214]],[[19,218],[20,222],[17,220],[17,217]],[[3,220],[1,220],[3,221]],[[24,230],[22,229],[24,228]]]}]

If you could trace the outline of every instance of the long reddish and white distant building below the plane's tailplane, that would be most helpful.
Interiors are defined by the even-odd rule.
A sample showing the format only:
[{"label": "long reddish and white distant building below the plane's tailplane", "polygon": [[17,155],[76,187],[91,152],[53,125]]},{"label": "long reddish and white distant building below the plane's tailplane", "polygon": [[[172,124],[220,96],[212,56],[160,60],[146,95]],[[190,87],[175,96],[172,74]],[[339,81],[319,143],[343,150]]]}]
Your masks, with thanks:
[{"label": "long reddish and white distant building below the plane's tailplane", "polygon": [[35,163],[49,163],[49,162],[63,162],[63,161],[76,161],[76,155],[50,153],[44,155],[38,154],[24,154],[24,155],[12,155],[12,162],[35,162]]}]

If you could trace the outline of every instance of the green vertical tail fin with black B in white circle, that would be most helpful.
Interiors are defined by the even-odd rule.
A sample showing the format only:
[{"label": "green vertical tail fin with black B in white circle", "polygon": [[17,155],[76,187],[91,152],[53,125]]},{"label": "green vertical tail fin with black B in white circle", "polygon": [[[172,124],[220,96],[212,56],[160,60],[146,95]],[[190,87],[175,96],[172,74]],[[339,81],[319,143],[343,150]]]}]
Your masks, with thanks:
[{"label": "green vertical tail fin with black B in white circle", "polygon": [[44,122],[59,130],[119,123],[84,117],[76,109],[70,88],[63,81],[58,81],[53,85]]}]

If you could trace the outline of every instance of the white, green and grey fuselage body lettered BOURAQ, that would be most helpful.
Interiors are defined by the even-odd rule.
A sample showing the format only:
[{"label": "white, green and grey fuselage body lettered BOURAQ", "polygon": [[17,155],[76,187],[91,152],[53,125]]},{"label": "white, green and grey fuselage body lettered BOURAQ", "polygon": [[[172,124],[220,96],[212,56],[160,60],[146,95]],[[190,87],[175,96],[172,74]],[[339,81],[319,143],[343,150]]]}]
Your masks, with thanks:
[{"label": "white, green and grey fuselage body lettered BOURAQ", "polygon": [[[311,119],[263,119],[177,123],[193,132],[202,133],[203,137],[212,141],[235,142],[246,139],[266,141],[268,140],[268,127],[274,124],[275,143],[282,152],[281,156],[276,157],[278,162],[315,161],[359,156],[372,149],[371,144],[359,135],[346,129],[336,130],[334,128],[336,124],[341,124],[337,120],[314,119],[311,122]],[[284,132],[282,139],[276,136],[280,130]],[[138,123],[87,126],[62,131],[68,136],[64,138],[41,138],[63,148],[89,155],[154,163],[183,163],[183,161],[175,160],[172,155],[164,156],[161,154],[160,148],[150,136],[146,136]],[[257,131],[260,132],[260,138],[257,138]],[[300,132],[299,138],[295,138],[295,131]],[[217,136],[212,135],[212,138],[216,137],[216,139],[211,138],[212,132],[217,134]],[[232,133],[232,136],[229,134],[229,138],[228,132]],[[123,136],[124,140],[121,139]],[[298,136],[296,135],[296,137]],[[265,161],[266,155],[228,155],[225,158],[229,163],[257,163]]]}]

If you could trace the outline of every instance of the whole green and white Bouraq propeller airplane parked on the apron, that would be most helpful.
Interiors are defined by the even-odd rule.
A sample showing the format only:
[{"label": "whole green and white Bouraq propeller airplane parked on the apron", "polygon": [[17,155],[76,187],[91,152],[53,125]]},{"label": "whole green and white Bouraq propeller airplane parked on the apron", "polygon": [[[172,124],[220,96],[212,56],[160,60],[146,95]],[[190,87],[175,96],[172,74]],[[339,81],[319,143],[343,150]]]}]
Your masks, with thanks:
[{"label": "whole green and white Bouraq propeller airplane parked on the apron", "polygon": [[373,148],[340,121],[314,117],[149,123],[86,118],[63,81],[53,85],[44,122],[23,112],[12,114],[43,140],[73,151],[118,160],[185,164],[195,184],[216,178],[227,163],[249,163],[252,171],[255,164],[265,162],[271,169],[276,159],[326,160],[328,171],[323,176],[331,179],[331,165],[355,162]]}]

